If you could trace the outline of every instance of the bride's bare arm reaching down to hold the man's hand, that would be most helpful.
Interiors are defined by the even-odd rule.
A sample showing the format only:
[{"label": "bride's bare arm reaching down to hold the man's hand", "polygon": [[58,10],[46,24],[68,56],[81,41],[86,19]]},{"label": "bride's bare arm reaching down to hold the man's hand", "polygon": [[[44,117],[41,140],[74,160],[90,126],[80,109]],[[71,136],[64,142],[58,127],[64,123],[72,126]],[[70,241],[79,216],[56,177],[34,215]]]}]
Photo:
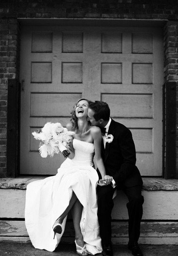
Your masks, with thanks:
[{"label": "bride's bare arm reaching down to hold the man's hand", "polygon": [[92,137],[94,139],[94,151],[95,151],[95,160],[96,164],[98,167],[98,170],[101,174],[102,179],[104,179],[106,175],[106,170],[105,166],[103,163],[103,159],[101,157],[101,140],[102,140],[102,135],[101,135],[101,130],[99,127],[94,126],[92,127]]}]

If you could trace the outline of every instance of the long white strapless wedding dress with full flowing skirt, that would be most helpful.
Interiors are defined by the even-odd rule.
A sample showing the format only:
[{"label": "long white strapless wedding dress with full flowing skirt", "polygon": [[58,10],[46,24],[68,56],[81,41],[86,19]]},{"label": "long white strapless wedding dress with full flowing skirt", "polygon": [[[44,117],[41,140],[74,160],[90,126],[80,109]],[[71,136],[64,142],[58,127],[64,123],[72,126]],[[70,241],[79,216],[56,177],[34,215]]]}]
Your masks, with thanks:
[{"label": "long white strapless wedding dress with full flowing skirt", "polygon": [[97,217],[96,184],[98,174],[93,168],[94,144],[73,139],[75,156],[67,158],[55,176],[28,184],[26,189],[25,224],[35,248],[54,251],[65,230],[59,235],[52,226],[68,207],[75,192],[83,205],[80,227],[90,254],[102,251]]}]

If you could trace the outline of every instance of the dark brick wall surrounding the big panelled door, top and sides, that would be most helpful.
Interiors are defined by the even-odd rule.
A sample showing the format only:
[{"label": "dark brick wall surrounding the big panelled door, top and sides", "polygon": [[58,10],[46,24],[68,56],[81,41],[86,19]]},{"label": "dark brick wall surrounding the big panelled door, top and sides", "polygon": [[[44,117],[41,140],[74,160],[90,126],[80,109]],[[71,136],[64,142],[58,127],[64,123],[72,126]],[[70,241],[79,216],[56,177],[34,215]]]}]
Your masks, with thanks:
[{"label": "dark brick wall surrounding the big panelled door, top and sides", "polygon": [[[165,81],[178,81],[178,1],[1,0],[0,1],[0,177],[6,175],[7,84],[18,79],[17,18],[168,19],[164,28]],[[178,95],[178,94],[177,94]],[[178,102],[178,97],[177,97]],[[178,104],[177,104],[178,105]],[[178,113],[178,110],[177,110]],[[178,125],[178,114],[177,114]],[[178,135],[177,135],[178,141]],[[178,144],[177,144],[178,147]],[[178,152],[178,151],[177,151]],[[178,175],[178,153],[177,153]],[[178,177],[177,177],[178,178]]]}]

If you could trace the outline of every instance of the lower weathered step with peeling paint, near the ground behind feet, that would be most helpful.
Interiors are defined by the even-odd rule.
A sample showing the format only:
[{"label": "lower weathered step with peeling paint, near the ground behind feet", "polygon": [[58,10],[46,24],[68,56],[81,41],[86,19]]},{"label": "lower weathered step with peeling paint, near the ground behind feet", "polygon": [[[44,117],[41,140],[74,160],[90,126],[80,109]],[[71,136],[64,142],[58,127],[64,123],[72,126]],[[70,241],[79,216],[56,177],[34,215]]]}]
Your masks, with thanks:
[{"label": "lower weathered step with peeling paint, near the ground behind feet", "polygon": [[[74,228],[72,220],[66,222],[63,241],[74,241]],[[169,239],[168,239],[169,238]],[[19,221],[0,221],[0,240],[30,242],[25,223]],[[128,240],[128,222],[112,221],[113,243],[125,244]],[[142,244],[178,244],[178,222],[157,221],[141,222],[140,241]]]}]

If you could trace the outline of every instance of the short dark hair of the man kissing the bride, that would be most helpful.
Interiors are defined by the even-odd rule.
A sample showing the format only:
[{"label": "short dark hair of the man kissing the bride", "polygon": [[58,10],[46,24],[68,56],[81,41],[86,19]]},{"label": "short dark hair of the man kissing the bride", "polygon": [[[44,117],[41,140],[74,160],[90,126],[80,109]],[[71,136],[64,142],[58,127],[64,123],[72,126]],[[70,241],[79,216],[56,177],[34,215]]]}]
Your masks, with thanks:
[{"label": "short dark hair of the man kissing the bride", "polygon": [[94,111],[94,119],[98,121],[99,119],[109,120],[110,118],[110,108],[108,103],[95,100],[95,102],[89,103],[89,108]]}]

